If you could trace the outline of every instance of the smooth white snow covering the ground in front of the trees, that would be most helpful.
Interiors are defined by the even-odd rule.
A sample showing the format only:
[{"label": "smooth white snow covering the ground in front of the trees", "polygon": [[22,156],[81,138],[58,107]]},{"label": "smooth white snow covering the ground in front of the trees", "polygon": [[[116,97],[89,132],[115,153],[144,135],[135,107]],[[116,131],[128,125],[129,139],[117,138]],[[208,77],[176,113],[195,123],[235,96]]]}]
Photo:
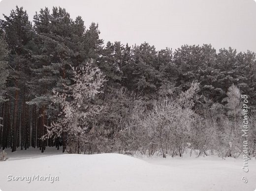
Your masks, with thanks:
[{"label": "smooth white snow covering the ground in front of the trees", "polygon": [[[7,151],[8,152],[8,151]],[[57,155],[56,155],[57,154]],[[255,191],[256,160],[218,157],[134,158],[120,154],[74,155],[61,150],[8,152],[0,162],[2,191]],[[27,158],[27,159],[25,159]],[[20,159],[20,160],[17,160]],[[50,175],[49,175],[50,174]],[[8,175],[11,175],[8,177]],[[31,181],[16,176],[53,177]],[[242,176],[248,183],[242,182]],[[58,178],[56,178],[58,176]],[[59,179],[59,180],[58,180]],[[27,179],[28,180],[28,179]],[[50,180],[50,181],[49,181]]]}]

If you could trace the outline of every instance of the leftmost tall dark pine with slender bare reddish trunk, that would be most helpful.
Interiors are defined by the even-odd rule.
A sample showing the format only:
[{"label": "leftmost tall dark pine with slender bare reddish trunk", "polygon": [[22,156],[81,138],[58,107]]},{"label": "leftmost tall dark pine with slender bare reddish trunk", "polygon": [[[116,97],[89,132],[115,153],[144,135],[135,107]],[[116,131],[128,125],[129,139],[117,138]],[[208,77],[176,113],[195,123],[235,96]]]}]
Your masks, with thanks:
[{"label": "leftmost tall dark pine with slender bare reddish trunk", "polygon": [[[20,113],[22,113],[22,122],[24,122],[25,117],[24,103],[26,102],[27,82],[30,78],[29,68],[31,66],[34,33],[32,23],[23,7],[16,6],[16,9],[11,11],[10,16],[4,15],[4,19],[0,23],[10,50],[7,86],[9,97],[13,98],[10,100],[14,100],[12,115],[12,152],[14,152],[20,143],[19,136],[17,136]],[[24,128],[23,123],[21,128]]]}]

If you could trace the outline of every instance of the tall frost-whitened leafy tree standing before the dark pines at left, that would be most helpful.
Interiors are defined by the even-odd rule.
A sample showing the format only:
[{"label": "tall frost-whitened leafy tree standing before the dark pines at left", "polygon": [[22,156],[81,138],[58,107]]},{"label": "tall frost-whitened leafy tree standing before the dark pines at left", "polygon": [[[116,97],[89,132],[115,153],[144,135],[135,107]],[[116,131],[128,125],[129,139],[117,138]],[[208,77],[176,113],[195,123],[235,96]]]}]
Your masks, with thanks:
[{"label": "tall frost-whitened leafy tree standing before the dark pines at left", "polygon": [[47,127],[47,134],[42,138],[67,135],[67,144],[71,153],[80,153],[80,146],[86,142],[86,130],[95,124],[95,117],[102,111],[102,106],[95,103],[96,95],[106,82],[98,67],[88,64],[73,70],[73,85],[64,85],[65,90],[53,89],[52,102],[60,108],[58,118]]}]

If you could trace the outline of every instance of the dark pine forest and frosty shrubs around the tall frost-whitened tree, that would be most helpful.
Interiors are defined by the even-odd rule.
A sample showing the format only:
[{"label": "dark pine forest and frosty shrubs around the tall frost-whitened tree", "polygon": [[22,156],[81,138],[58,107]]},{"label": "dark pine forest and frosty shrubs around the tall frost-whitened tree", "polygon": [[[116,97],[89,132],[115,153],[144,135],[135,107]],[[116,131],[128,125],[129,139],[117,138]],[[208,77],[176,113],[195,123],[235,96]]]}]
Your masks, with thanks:
[{"label": "dark pine forest and frosty shrubs around the tall frost-whitened tree", "polygon": [[[182,155],[190,142],[201,153],[214,148],[223,156],[236,155],[231,154],[230,145],[223,154],[223,146],[234,139],[227,141],[220,136],[227,130],[229,133],[223,134],[227,137],[234,133],[230,128],[233,124],[236,133],[232,135],[239,139],[238,124],[242,117],[236,112],[240,106],[237,95],[248,95],[250,117],[255,116],[255,53],[237,53],[232,48],[217,53],[211,45],[184,45],[175,51],[169,48],[157,51],[148,43],[129,46],[107,42],[104,45],[99,34],[97,24],[86,28],[80,16],[72,20],[60,7],[53,7],[51,12],[48,8],[41,9],[34,15],[33,23],[22,7],[16,7],[9,16],[4,15],[4,20],[0,20],[2,149],[11,147],[16,151],[17,147],[32,146],[43,152],[46,146],[63,146],[64,150],[70,146],[65,132],[60,137],[41,139],[47,133],[45,126],[58,118],[58,109],[52,107],[53,88],[63,92],[65,85],[74,84],[71,67],[91,63],[103,72],[107,82],[103,93],[94,100],[104,109],[89,124],[88,141],[80,149],[84,153],[140,151],[154,154],[160,151],[165,156],[171,151],[172,155]],[[179,129],[172,129],[174,126],[153,126],[154,122],[173,121],[178,125],[176,117],[167,120],[173,108],[179,111],[176,117],[184,116],[188,122],[182,124],[188,127],[183,133],[195,127],[191,134],[181,135]],[[165,117],[159,118],[156,113]],[[204,121],[199,123],[199,119]],[[195,124],[200,124],[201,129],[196,130],[199,126]],[[212,125],[207,126],[209,124]],[[205,137],[213,135],[213,130],[218,133],[215,132],[212,140]],[[254,133],[252,130],[250,134],[252,153],[256,145]],[[181,136],[186,138],[181,139]],[[196,143],[200,138],[205,143]],[[220,140],[221,146],[215,148]]]}]

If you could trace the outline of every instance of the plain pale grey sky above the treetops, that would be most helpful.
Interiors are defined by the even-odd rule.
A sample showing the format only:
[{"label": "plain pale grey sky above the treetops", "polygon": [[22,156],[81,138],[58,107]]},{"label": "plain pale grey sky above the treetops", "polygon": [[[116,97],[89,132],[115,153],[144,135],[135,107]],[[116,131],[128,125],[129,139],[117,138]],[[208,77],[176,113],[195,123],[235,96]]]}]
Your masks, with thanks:
[{"label": "plain pale grey sky above the treetops", "polygon": [[2,0],[0,18],[16,4],[31,20],[45,6],[64,7],[72,18],[82,16],[86,27],[98,23],[104,42],[146,41],[158,50],[212,44],[256,52],[254,0]]}]

